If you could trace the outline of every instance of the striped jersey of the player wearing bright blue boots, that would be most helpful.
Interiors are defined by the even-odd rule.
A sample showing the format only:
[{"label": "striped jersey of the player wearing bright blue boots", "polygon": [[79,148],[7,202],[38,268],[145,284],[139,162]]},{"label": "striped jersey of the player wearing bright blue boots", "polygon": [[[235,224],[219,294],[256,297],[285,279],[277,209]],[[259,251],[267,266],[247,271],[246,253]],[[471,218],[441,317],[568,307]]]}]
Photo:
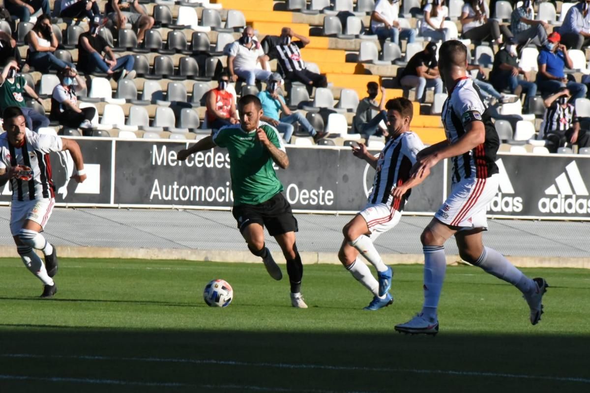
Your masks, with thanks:
[{"label": "striped jersey of the player wearing bright blue boots", "polygon": [[394,199],[391,192],[396,186],[409,179],[409,172],[416,163],[416,156],[424,144],[417,134],[402,133],[390,139],[383,147],[377,160],[373,189],[369,195],[370,204],[385,203],[401,212],[412,190],[404,194],[404,198]]}]

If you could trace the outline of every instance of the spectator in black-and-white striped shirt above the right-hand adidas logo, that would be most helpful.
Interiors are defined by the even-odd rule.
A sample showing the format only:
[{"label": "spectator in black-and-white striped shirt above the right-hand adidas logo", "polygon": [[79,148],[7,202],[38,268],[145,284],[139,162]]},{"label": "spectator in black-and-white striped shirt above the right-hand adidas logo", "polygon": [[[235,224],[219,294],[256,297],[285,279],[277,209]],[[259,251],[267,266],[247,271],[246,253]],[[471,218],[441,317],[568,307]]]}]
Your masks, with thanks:
[{"label": "spectator in black-and-white striped shirt above the right-hand adidas logo", "polygon": [[578,144],[578,148],[590,147],[590,134],[580,127],[576,109],[569,100],[569,90],[562,87],[543,101],[547,109],[540,134],[547,140],[546,146],[551,153],[568,144]]}]

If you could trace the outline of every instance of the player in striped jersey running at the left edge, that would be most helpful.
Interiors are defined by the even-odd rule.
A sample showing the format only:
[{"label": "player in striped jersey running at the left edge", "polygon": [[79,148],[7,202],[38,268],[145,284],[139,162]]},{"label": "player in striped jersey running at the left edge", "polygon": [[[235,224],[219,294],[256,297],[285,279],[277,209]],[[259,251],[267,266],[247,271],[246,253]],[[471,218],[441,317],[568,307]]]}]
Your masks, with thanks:
[{"label": "player in striped jersey running at the left edge", "polygon": [[[58,267],[57,251],[40,233],[55,205],[49,153],[70,151],[78,169],[72,177],[78,183],[86,179],[82,153],[74,140],[29,130],[18,107],[6,108],[2,118],[6,132],[0,135],[0,187],[10,181],[10,231],[22,262],[44,284],[41,298],[51,298],[57,292],[53,280]],[[45,264],[33,249],[42,250]]]}]

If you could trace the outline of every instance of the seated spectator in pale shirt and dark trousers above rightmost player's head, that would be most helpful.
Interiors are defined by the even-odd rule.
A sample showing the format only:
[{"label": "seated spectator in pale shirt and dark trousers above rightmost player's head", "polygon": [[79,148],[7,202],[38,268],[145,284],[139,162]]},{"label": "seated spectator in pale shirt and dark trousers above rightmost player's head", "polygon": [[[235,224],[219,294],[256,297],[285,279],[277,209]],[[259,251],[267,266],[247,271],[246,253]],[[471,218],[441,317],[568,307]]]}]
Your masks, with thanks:
[{"label": "seated spectator in pale shirt and dark trousers above rightmost player's head", "polygon": [[467,0],[461,9],[461,25],[463,37],[471,41],[493,41],[501,44],[504,39],[512,37],[512,33],[495,19],[488,19],[490,9],[484,0]]}]

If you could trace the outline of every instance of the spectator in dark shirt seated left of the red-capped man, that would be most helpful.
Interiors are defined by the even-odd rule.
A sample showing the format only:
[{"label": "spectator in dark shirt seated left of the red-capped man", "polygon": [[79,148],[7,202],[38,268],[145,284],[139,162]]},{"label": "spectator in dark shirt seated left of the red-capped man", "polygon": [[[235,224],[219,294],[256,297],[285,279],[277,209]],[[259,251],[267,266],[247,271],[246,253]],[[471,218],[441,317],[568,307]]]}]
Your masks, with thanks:
[{"label": "spectator in dark shirt seated left of the red-capped man", "polygon": [[[509,90],[511,94],[526,94],[523,110],[529,111],[530,97],[537,94],[537,85],[530,81],[530,72],[518,66],[516,38],[510,39],[504,48],[494,56],[494,64],[490,72],[490,82],[498,91]],[[523,79],[518,76],[523,75]]]}]

